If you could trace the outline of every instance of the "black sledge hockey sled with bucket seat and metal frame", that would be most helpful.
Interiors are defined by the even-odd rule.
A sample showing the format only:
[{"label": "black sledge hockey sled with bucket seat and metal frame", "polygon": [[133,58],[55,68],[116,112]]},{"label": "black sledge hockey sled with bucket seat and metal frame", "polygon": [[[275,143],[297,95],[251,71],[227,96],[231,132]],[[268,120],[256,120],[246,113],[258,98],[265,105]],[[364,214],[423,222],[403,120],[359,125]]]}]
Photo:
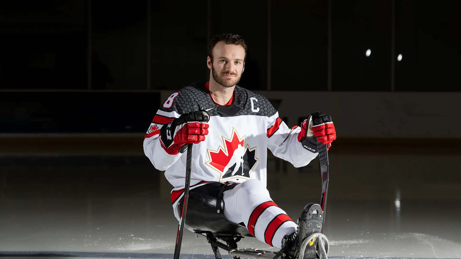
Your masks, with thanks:
[{"label": "black sledge hockey sled with bucket seat and metal frame", "polygon": [[[183,200],[179,201],[177,206],[178,213],[181,213],[183,206]],[[224,201],[221,200],[220,206],[217,206],[217,199],[205,194],[199,194],[195,192],[189,193],[187,217],[185,219],[185,226],[194,233],[204,235],[210,243],[216,259],[222,259],[219,248],[224,249],[229,255],[233,256],[234,259],[240,257],[252,258],[252,259],[274,259],[274,257],[281,257],[284,254],[278,254],[277,251],[265,251],[260,249],[239,249],[237,242],[244,237],[253,237],[245,225],[235,224],[227,221],[224,217],[223,208]],[[318,240],[318,250],[321,251],[321,259],[326,259],[329,250],[329,241],[325,235],[321,233],[314,233],[307,237],[303,242],[299,259],[303,258],[304,250],[307,243],[312,239]],[[302,250],[302,251],[301,251]]]}]

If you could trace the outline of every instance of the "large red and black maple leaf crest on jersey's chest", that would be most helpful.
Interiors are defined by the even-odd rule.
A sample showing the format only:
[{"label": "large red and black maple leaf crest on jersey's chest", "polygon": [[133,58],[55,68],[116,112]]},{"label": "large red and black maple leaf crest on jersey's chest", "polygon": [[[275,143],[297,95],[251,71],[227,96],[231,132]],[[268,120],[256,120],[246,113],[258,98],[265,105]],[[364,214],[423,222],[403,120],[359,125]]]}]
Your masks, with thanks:
[{"label": "large red and black maple leaf crest on jersey's chest", "polygon": [[221,174],[220,182],[232,178],[250,178],[250,173],[259,159],[256,158],[256,147],[246,144],[245,135],[240,138],[232,128],[231,138],[222,136],[224,146],[218,150],[208,149],[209,160],[205,164]]}]

